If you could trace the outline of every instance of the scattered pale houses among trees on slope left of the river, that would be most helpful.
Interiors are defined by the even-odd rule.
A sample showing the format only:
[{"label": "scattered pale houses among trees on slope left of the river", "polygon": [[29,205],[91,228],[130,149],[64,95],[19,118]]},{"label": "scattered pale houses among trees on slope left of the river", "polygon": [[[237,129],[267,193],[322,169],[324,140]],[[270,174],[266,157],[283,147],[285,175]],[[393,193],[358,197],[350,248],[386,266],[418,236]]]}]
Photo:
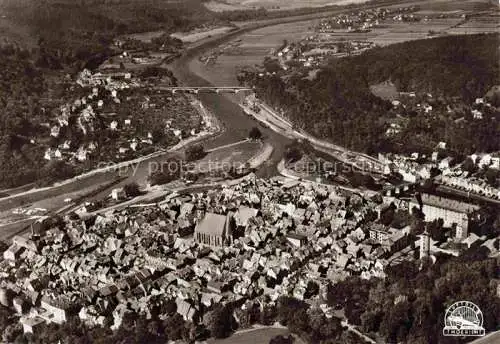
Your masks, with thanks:
[{"label": "scattered pale houses among trees on slope left of the river", "polygon": [[[179,111],[196,114],[195,109],[184,98],[170,96],[159,100],[147,95],[132,97],[130,90],[141,88],[142,83],[129,72],[93,74],[85,69],[78,75],[76,83],[82,87],[82,92],[88,91],[88,94],[60,106],[55,119],[47,123],[52,143],[45,149],[45,160],[79,164],[98,154],[101,158],[116,161],[154,149],[152,130],[138,130],[142,124],[141,118],[119,114],[124,102],[130,109],[137,107],[151,113]],[[167,103],[168,109],[165,110]],[[176,116],[176,113],[172,113],[172,118],[165,121],[163,128],[165,136],[170,135],[173,142],[178,142],[185,136],[196,135],[203,126],[203,123],[195,125],[191,121],[193,123],[189,123],[192,124],[189,130],[181,130],[177,127],[186,126],[186,123],[181,122],[187,122],[189,118],[183,116],[179,121],[174,121]],[[111,147],[104,147],[97,140],[103,130],[115,133],[114,140],[108,142]],[[68,135],[75,131],[82,133],[83,139],[79,142],[71,139],[75,135]]]}]

